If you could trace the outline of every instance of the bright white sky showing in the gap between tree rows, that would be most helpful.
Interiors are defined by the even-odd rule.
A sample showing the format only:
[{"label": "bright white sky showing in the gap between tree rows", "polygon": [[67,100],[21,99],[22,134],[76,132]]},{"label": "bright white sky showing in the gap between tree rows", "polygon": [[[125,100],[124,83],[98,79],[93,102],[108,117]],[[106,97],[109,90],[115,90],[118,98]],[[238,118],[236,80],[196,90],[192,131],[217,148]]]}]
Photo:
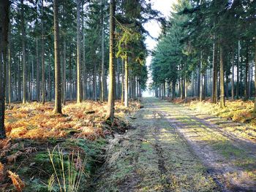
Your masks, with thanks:
[{"label": "bright white sky showing in the gap between tree rows", "polygon": [[[151,4],[153,9],[159,10],[159,12],[162,12],[162,15],[164,15],[166,18],[170,15],[172,4],[175,4],[177,0],[151,0]],[[146,30],[151,34],[152,37],[157,38],[159,37],[159,34],[161,32],[161,26],[156,21],[151,21],[145,24]],[[153,50],[154,47],[157,45],[157,41],[155,39],[151,39],[151,37],[146,38],[146,46],[148,47],[148,50]],[[151,56],[149,55],[146,59],[146,65],[149,66],[151,63]],[[148,82],[149,84],[151,82],[151,74],[149,72],[148,74]],[[149,91],[143,92],[143,96],[151,96],[152,93]]]}]

